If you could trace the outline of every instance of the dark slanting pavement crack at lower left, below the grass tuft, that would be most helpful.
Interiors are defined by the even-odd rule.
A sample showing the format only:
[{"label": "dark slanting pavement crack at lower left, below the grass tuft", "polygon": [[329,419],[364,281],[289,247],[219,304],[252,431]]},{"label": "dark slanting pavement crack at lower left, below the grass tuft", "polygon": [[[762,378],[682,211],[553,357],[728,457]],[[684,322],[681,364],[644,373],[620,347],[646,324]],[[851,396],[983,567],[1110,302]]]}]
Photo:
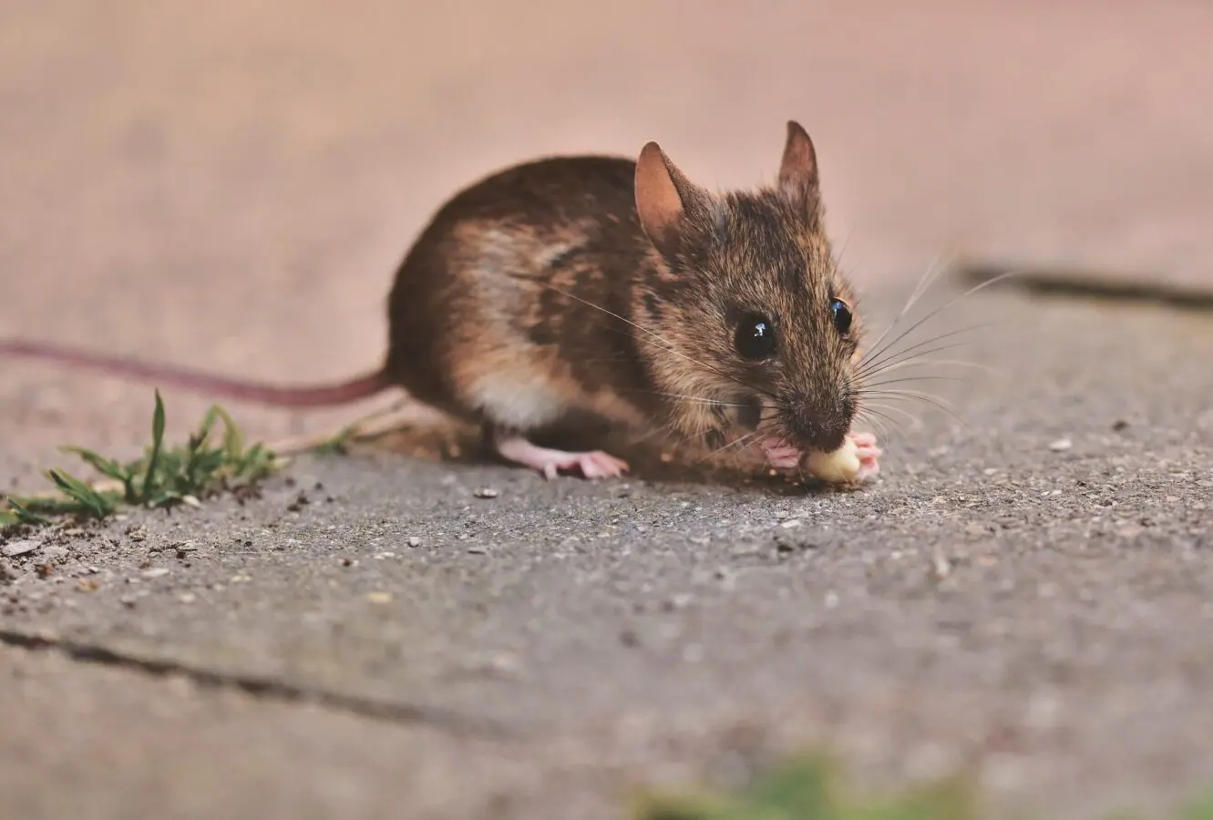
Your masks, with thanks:
[{"label": "dark slanting pavement crack at lower left, below the grass tuft", "polygon": [[402,704],[306,687],[280,678],[216,672],[163,657],[138,657],[102,644],[70,640],[21,630],[0,628],[0,643],[30,651],[57,651],[82,664],[113,666],[152,677],[181,676],[212,689],[237,689],[255,697],[291,704],[318,704],[359,717],[402,724],[420,724],[448,734],[506,740],[516,733],[488,718],[437,706]]}]

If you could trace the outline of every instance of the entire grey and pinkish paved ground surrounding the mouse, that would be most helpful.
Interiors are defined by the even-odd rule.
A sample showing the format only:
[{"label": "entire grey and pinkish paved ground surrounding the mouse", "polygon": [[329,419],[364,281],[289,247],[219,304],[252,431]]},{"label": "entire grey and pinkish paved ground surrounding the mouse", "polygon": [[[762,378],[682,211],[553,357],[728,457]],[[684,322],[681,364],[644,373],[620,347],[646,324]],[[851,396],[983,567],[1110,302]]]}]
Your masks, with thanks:
[{"label": "entire grey and pinkish paved ground surrounding the mouse", "polygon": [[[344,375],[452,188],[649,138],[745,184],[788,116],[878,321],[949,244],[1211,281],[1201,4],[286,8],[0,6],[5,334]],[[1213,319],[991,294],[923,330],[985,321],[956,355],[997,372],[918,386],[966,423],[905,423],[858,494],[404,437],[5,559],[0,814],[613,818],[819,741],[1066,818],[1180,799],[1213,782]],[[11,482],[147,434],[146,386],[0,366]],[[178,433],[206,405],[166,398]]]}]

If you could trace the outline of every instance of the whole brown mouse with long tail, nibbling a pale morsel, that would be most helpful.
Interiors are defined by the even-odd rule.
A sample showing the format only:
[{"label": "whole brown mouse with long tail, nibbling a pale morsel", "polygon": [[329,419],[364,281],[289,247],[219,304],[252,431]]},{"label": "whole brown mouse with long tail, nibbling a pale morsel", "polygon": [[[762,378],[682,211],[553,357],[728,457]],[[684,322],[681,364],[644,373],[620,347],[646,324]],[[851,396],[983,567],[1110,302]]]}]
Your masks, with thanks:
[{"label": "whole brown mouse with long tail, nibbling a pale morsel", "polygon": [[865,482],[881,450],[852,431],[864,323],[824,217],[816,149],[795,120],[776,180],[751,190],[710,190],[654,141],[636,159],[549,155],[438,207],[395,269],[382,363],[348,381],[246,382],[22,338],[0,340],[0,355],[280,408],[399,388],[549,479],[630,469],[539,443],[582,412],[780,471],[848,448]]}]

